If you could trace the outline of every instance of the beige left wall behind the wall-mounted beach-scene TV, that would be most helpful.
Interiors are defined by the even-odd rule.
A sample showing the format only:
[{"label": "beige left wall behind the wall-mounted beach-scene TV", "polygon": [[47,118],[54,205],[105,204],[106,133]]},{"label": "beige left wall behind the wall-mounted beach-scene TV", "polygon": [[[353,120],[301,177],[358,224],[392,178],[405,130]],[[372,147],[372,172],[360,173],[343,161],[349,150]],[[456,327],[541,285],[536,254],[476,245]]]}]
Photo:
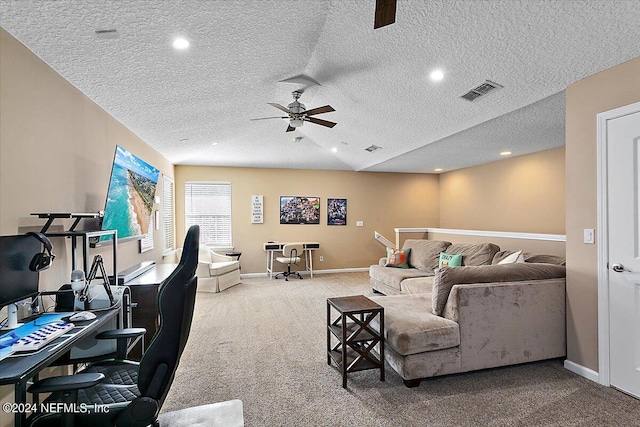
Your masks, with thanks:
[{"label": "beige left wall behind the wall-mounted beach-scene TV", "polygon": [[[173,176],[169,161],[0,29],[0,235],[43,225],[31,212],[102,209],[116,144]],[[68,243],[53,243],[56,260],[41,273],[41,288],[69,280]],[[119,245],[119,269],[160,259],[160,233],[155,246],[140,255],[138,242]],[[92,252],[105,254],[108,273],[110,252]],[[12,390],[0,387],[0,400],[13,401]],[[12,424],[0,412],[0,425]]]}]

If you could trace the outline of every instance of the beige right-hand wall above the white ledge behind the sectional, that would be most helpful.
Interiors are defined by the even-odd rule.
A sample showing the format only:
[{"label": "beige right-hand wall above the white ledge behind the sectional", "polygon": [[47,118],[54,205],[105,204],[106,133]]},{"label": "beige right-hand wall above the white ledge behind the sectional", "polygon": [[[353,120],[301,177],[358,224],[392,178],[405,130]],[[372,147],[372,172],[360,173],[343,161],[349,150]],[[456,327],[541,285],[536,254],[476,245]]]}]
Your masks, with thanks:
[{"label": "beige right-hand wall above the white ledge behind the sectional", "polygon": [[564,234],[564,147],[440,175],[440,227]]}]

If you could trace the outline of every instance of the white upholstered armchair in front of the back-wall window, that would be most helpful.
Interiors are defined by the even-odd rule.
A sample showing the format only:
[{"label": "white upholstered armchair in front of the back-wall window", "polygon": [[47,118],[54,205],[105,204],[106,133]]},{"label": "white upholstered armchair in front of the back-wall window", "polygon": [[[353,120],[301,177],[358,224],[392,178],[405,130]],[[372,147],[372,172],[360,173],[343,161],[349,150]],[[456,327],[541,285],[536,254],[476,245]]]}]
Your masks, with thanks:
[{"label": "white upholstered armchair in front of the back-wall window", "polygon": [[[176,251],[178,257],[180,252],[181,249]],[[222,292],[240,283],[240,262],[200,243],[196,275],[198,292]]]}]

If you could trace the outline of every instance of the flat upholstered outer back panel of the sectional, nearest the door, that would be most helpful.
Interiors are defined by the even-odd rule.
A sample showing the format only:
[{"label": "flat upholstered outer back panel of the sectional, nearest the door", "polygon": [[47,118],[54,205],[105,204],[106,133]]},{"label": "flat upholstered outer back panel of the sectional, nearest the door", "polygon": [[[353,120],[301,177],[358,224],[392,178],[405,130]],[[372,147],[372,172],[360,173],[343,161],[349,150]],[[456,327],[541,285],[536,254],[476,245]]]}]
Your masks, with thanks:
[{"label": "flat upholstered outer back panel of the sectional, nearest the door", "polygon": [[443,316],[460,327],[463,370],[566,355],[564,278],[455,285]]}]

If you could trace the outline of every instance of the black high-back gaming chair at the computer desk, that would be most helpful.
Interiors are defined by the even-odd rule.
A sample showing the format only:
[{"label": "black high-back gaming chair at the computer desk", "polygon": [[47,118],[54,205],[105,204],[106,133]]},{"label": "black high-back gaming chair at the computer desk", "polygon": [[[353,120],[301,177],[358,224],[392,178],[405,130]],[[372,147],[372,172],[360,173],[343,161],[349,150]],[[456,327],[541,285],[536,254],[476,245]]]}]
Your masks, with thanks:
[{"label": "black high-back gaming chair at the computer desk", "polygon": [[[68,407],[76,404],[78,411],[34,414],[29,419],[31,426],[158,425],[160,407],[173,382],[191,329],[196,298],[199,235],[198,226],[189,228],[180,262],[160,287],[160,328],[140,363],[113,361],[94,364],[76,375],[46,378],[37,382],[28,391],[51,392],[45,404],[61,402]],[[125,377],[119,378],[123,373]],[[132,375],[136,377],[135,383],[131,381]],[[82,413],[82,408],[86,413]]]}]

